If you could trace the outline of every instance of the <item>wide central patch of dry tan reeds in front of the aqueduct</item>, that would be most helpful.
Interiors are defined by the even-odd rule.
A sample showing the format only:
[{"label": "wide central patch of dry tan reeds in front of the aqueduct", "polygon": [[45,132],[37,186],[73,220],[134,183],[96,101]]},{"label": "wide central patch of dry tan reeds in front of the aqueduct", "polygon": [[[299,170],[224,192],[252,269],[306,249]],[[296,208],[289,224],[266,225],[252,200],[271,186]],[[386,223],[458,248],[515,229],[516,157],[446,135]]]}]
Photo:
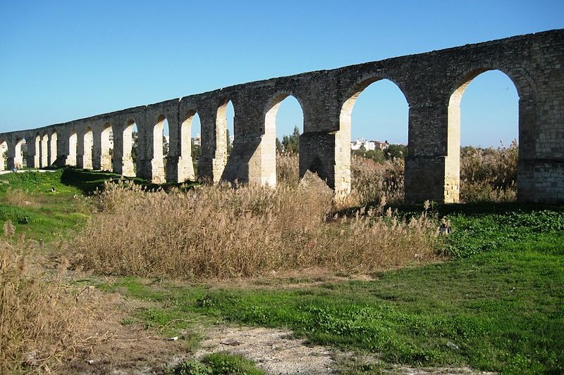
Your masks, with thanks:
[{"label": "wide central patch of dry tan reeds in front of the aqueduct", "polygon": [[333,217],[322,182],[189,193],[120,184],[98,199],[102,214],[72,247],[75,262],[104,274],[230,278],[314,266],[369,272],[434,257],[434,220],[407,222],[382,209]]}]

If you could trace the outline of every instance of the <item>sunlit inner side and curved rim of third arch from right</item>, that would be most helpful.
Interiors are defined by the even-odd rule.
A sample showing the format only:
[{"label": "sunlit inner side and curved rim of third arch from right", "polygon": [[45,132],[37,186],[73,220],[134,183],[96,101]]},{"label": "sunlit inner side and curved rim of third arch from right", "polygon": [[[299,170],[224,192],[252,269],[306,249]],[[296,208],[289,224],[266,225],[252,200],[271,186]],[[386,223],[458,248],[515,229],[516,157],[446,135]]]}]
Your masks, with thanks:
[{"label": "sunlit inner side and curved rim of third arch from right", "polygon": [[262,129],[263,136],[260,146],[262,160],[261,182],[263,185],[276,186],[276,115],[278,115],[282,102],[289,97],[295,98],[298,101],[303,116],[304,106],[302,101],[299,96],[294,95],[290,91],[280,91],[274,94],[267,102],[264,110],[264,128]]}]

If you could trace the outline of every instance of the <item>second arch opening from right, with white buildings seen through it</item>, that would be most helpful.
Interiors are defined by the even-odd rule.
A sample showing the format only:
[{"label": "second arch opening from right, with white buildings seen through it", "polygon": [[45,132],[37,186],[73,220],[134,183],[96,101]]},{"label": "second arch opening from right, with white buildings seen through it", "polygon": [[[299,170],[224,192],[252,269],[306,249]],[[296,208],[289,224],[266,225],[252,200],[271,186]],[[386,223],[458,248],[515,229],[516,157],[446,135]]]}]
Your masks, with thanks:
[{"label": "second arch opening from right, with white buildings seen through it", "polygon": [[[336,134],[336,191],[356,204],[403,201],[409,105],[396,83],[380,77],[357,84],[347,98]],[[354,127],[353,127],[354,124]]]}]

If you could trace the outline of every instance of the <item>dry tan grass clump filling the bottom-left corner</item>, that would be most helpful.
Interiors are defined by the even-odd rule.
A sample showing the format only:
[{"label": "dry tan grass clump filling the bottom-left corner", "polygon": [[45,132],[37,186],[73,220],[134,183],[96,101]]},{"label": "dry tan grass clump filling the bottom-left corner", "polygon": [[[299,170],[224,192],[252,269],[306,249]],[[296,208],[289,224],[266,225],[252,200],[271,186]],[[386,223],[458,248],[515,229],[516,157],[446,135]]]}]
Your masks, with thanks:
[{"label": "dry tan grass clump filling the bottom-left corner", "polygon": [[34,249],[4,224],[0,240],[0,373],[42,369],[73,354],[89,314],[59,279],[68,261],[48,275]]}]

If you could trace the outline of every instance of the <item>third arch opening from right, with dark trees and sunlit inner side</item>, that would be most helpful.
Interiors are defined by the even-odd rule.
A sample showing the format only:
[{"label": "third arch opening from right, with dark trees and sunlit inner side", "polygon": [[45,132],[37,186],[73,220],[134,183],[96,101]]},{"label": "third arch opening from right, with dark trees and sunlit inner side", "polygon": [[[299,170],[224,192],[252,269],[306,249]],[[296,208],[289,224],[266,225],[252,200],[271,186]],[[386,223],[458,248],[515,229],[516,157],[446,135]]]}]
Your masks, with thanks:
[{"label": "third arch opening from right, with dark trees and sunlit inner side", "polygon": [[300,135],[304,114],[300,102],[290,94],[280,94],[264,120],[264,183],[290,185],[300,181]]}]

